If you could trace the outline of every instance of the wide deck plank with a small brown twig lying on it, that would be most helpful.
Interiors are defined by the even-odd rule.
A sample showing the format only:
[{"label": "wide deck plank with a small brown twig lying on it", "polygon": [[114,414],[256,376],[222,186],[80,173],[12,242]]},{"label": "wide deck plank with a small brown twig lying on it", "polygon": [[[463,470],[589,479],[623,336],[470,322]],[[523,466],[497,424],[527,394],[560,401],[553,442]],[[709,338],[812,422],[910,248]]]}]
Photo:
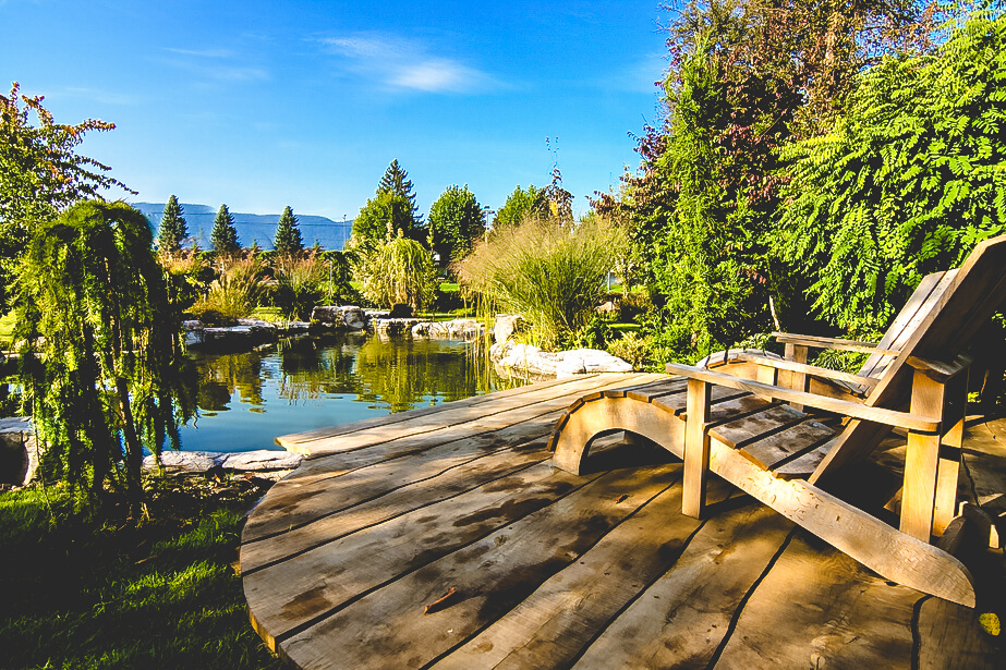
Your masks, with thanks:
[{"label": "wide deck plank with a small brown twig lying on it", "polygon": [[[614,471],[561,501],[367,593],[282,642],[311,668],[417,668],[450,651],[517,607],[641,504],[680,477],[680,465]],[[623,498],[625,496],[625,498]],[[453,604],[423,614],[447,586]],[[361,645],[360,641],[366,641]]]}]

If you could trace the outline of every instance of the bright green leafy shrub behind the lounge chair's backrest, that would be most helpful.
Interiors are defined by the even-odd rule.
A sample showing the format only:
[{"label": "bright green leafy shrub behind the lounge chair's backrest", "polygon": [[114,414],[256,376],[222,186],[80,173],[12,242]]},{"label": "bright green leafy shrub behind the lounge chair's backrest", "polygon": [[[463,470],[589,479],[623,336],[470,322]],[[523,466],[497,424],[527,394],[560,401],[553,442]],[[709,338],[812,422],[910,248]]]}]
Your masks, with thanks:
[{"label": "bright green leafy shrub behind the lounge chair's backrest", "polygon": [[834,132],[784,157],[779,253],[822,316],[883,329],[923,276],[1006,229],[1006,15],[974,15],[936,56],[885,58]]}]

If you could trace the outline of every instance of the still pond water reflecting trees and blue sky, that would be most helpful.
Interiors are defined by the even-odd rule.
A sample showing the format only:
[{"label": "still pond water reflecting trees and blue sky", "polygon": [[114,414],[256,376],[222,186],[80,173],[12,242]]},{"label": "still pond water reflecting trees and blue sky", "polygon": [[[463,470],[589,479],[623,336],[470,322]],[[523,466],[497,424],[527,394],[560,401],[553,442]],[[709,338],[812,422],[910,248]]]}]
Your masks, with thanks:
[{"label": "still pond water reflecting trees and blue sky", "polygon": [[460,400],[521,383],[465,342],[362,334],[281,340],[251,352],[190,354],[199,416],[182,449],[280,449],[278,435]]}]

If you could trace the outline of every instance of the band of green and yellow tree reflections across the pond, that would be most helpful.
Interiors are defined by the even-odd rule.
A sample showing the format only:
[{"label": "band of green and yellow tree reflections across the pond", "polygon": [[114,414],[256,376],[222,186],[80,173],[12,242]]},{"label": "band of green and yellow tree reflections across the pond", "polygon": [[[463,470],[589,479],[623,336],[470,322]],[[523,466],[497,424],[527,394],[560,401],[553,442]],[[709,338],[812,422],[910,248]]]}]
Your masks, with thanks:
[{"label": "band of green and yellow tree reflections across the pond", "polygon": [[194,353],[193,360],[204,411],[227,410],[235,389],[243,402],[257,409],[268,379],[279,385],[279,398],[290,402],[349,395],[391,412],[411,410],[432,398],[447,402],[512,383],[501,382],[477,349],[411,338],[298,338],[281,340],[275,350]]}]

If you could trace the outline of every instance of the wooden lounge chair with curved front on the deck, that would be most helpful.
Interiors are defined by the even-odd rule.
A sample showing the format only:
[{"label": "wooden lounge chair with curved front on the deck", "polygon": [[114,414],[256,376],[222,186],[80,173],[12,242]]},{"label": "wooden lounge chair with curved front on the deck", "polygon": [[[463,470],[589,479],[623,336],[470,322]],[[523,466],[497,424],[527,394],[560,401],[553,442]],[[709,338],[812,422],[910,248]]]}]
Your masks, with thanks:
[{"label": "wooden lounge chair with curved front on the deck", "polygon": [[[596,437],[641,435],[683,459],[686,514],[703,513],[713,472],[884,577],[973,607],[968,570],[930,543],[955,513],[970,363],[962,351],[1004,297],[1001,236],[979,244],[957,272],[926,278],[876,345],[780,334],[788,361],[725,356],[722,369],[668,364],[675,377],[581,398],[556,426],[555,464],[579,474]],[[800,348],[813,346],[873,355],[866,374],[836,375],[799,361]],[[852,388],[845,398],[809,392],[817,376]],[[856,387],[865,391],[861,401],[848,392]],[[836,431],[803,407],[849,418]],[[839,474],[855,475],[892,427],[908,431],[899,528],[824,488]]]}]

